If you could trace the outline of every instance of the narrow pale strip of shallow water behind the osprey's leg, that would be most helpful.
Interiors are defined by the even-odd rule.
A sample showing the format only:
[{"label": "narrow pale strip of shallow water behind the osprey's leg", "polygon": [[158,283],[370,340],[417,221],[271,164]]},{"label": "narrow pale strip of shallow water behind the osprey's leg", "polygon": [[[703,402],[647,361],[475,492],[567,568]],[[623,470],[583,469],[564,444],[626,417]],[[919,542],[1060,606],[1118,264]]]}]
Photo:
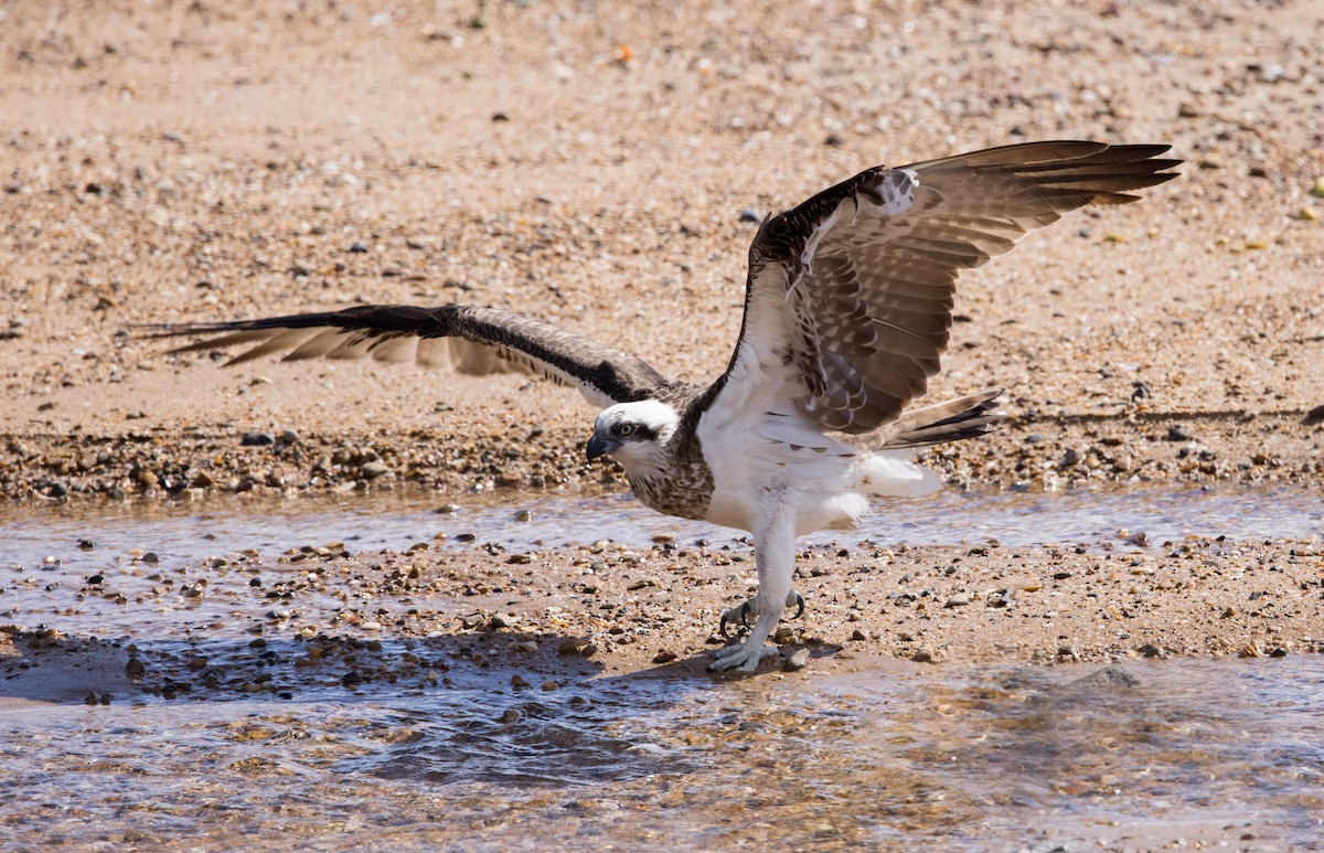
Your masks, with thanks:
[{"label": "narrow pale strip of shallow water behind the osprey's leg", "polygon": [[[454,511],[440,511],[453,507]],[[879,501],[858,530],[824,531],[804,543],[960,544],[998,539],[1009,547],[1119,540],[1119,531],[1149,542],[1185,536],[1304,539],[1324,535],[1324,497],[1309,486],[1218,489],[1168,485],[1076,489],[1059,493],[944,490],[925,498]],[[526,518],[527,521],[522,521]],[[520,493],[463,495],[381,493],[286,501],[217,498],[200,503],[107,503],[36,506],[0,519],[0,567],[36,566],[48,556],[70,567],[97,568],[132,548],[162,559],[199,559],[257,547],[283,551],[340,540],[354,551],[409,547],[445,534],[511,550],[612,539],[647,546],[657,535],[678,542],[736,543],[744,534],[654,513],[630,494]],[[97,547],[79,550],[78,542]]]}]

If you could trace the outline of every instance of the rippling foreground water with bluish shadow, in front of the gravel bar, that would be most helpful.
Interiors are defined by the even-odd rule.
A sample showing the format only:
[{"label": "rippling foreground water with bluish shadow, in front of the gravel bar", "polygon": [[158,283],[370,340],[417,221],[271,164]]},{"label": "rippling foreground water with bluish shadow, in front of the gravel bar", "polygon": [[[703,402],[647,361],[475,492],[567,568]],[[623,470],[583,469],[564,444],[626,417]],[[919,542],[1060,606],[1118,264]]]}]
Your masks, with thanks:
[{"label": "rippling foreground water with bluish shadow, in front of the gravel bar", "polygon": [[[13,844],[1309,846],[1324,660],[0,711]],[[95,829],[90,829],[95,827]],[[531,828],[536,828],[532,830]]]}]

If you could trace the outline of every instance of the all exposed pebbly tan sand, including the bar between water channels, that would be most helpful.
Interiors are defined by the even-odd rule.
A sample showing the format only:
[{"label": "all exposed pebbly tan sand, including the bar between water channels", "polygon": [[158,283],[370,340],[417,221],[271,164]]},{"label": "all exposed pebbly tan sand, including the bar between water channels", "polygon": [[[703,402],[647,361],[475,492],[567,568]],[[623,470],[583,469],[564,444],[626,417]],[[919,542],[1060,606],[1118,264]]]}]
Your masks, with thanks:
[{"label": "all exposed pebbly tan sand, including the bar between water channels", "polygon": [[[711,377],[739,327],[755,230],[741,211],[784,209],[876,163],[1049,138],[1166,142],[1189,164],[1141,203],[1071,216],[963,279],[935,393],[1001,385],[1014,417],[928,462],[957,483],[1031,489],[1324,486],[1324,428],[1307,417],[1324,404],[1320,32],[1319,0],[0,3],[0,490],[71,502],[596,482],[581,456],[592,412],[560,389],[361,363],[222,371],[126,330],[465,301]],[[241,448],[246,432],[277,441]],[[1043,548],[1019,563],[997,550],[849,559],[879,597],[916,571],[941,579],[940,601],[1059,584],[1079,625],[977,608],[1023,657],[1324,637],[1317,543],[1190,548],[1116,570]],[[548,579],[583,571],[573,554],[538,559]],[[477,576],[503,560],[424,568]],[[830,641],[854,630],[822,607],[859,595],[849,575],[814,581],[810,619]],[[736,585],[659,603],[706,625],[671,625],[677,642],[702,648]],[[1275,605],[1246,612],[1259,588]],[[1137,589],[1145,607],[1119,604]],[[528,624],[548,619],[539,607],[531,593]],[[939,636],[870,612],[863,634],[882,654],[998,653],[974,609],[931,608]],[[583,624],[548,623],[553,634],[625,633],[557,619]],[[687,650],[605,645],[629,665]]]}]

